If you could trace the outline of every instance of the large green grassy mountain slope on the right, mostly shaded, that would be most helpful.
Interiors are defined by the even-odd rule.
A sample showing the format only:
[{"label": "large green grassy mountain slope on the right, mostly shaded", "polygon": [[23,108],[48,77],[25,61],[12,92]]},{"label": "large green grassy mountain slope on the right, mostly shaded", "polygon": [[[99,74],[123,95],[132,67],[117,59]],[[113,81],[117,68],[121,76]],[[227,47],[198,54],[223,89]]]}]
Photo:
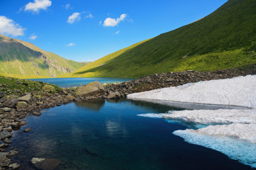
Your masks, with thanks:
[{"label": "large green grassy mountain slope on the right, mostly shaded", "polygon": [[210,15],[60,77],[142,77],[256,63],[256,0],[230,0]]}]

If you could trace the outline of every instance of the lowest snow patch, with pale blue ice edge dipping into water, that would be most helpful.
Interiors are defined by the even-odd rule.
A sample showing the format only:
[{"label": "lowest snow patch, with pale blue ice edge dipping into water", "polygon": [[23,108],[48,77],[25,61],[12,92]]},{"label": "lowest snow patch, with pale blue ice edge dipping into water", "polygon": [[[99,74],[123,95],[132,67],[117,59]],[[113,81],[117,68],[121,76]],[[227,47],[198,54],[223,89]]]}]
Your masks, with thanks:
[{"label": "lowest snow patch, with pale blue ice edge dipping into water", "polygon": [[[174,135],[183,137],[183,139],[194,145],[201,145],[210,149],[217,150],[223,154],[230,157],[230,159],[238,160],[242,164],[247,164],[251,167],[256,167],[256,145],[255,143],[246,142],[244,140],[237,140],[238,138],[245,137],[250,140],[247,135],[252,135],[254,132],[244,131],[245,128],[252,128],[255,130],[256,125],[242,125],[242,124],[232,124],[232,125],[218,125],[218,126],[208,126],[207,128],[199,130],[176,130]],[[227,129],[228,128],[228,129]],[[235,129],[234,129],[235,128]],[[216,132],[214,132],[216,130]],[[235,132],[229,130],[235,130]],[[242,130],[242,131],[240,131]],[[210,132],[208,134],[208,132]],[[220,131],[220,133],[218,133]],[[223,133],[224,132],[224,133]],[[227,132],[227,133],[225,133]],[[242,133],[245,135],[240,136]],[[235,135],[236,133],[236,135]],[[255,140],[252,140],[255,142]]]}]

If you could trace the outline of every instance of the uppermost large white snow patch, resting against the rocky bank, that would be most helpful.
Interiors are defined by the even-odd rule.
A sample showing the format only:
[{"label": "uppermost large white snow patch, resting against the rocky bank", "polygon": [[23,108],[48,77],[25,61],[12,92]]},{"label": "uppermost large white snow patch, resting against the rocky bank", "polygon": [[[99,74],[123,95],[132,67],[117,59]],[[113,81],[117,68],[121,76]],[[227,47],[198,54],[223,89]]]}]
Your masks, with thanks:
[{"label": "uppermost large white snow patch, resting against the rocky bank", "polygon": [[256,107],[255,96],[256,75],[249,75],[129,94],[127,98]]}]

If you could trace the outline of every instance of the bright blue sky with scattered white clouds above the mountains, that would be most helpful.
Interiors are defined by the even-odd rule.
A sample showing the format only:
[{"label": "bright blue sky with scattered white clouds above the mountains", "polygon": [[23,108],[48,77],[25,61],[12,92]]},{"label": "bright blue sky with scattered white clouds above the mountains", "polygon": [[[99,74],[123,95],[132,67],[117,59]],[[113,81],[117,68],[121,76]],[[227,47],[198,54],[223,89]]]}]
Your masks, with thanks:
[{"label": "bright blue sky with scattered white clouds above the mountains", "polygon": [[0,34],[95,61],[215,11],[227,0],[0,0]]}]

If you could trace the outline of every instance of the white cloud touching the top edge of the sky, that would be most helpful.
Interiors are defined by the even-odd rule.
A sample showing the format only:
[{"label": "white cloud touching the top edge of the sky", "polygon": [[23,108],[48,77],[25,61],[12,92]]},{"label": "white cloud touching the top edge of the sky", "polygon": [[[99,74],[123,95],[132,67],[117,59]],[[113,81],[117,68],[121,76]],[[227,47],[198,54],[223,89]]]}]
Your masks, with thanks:
[{"label": "white cloud touching the top edge of the sky", "polygon": [[41,9],[46,10],[49,6],[51,6],[50,0],[34,0],[26,4],[24,10],[38,13]]}]

